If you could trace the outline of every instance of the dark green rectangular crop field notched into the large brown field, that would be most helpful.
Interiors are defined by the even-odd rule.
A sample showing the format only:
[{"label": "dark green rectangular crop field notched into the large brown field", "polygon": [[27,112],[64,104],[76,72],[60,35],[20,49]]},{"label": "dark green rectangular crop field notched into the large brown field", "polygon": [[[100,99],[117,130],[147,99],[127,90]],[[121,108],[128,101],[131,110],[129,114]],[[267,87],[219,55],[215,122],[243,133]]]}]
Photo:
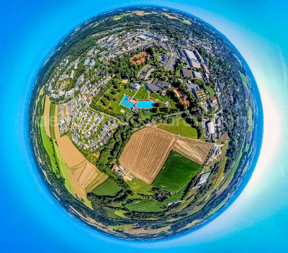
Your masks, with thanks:
[{"label": "dark green rectangular crop field notched into the large brown field", "polygon": [[172,150],[152,185],[166,191],[179,192],[200,167],[200,164]]}]

